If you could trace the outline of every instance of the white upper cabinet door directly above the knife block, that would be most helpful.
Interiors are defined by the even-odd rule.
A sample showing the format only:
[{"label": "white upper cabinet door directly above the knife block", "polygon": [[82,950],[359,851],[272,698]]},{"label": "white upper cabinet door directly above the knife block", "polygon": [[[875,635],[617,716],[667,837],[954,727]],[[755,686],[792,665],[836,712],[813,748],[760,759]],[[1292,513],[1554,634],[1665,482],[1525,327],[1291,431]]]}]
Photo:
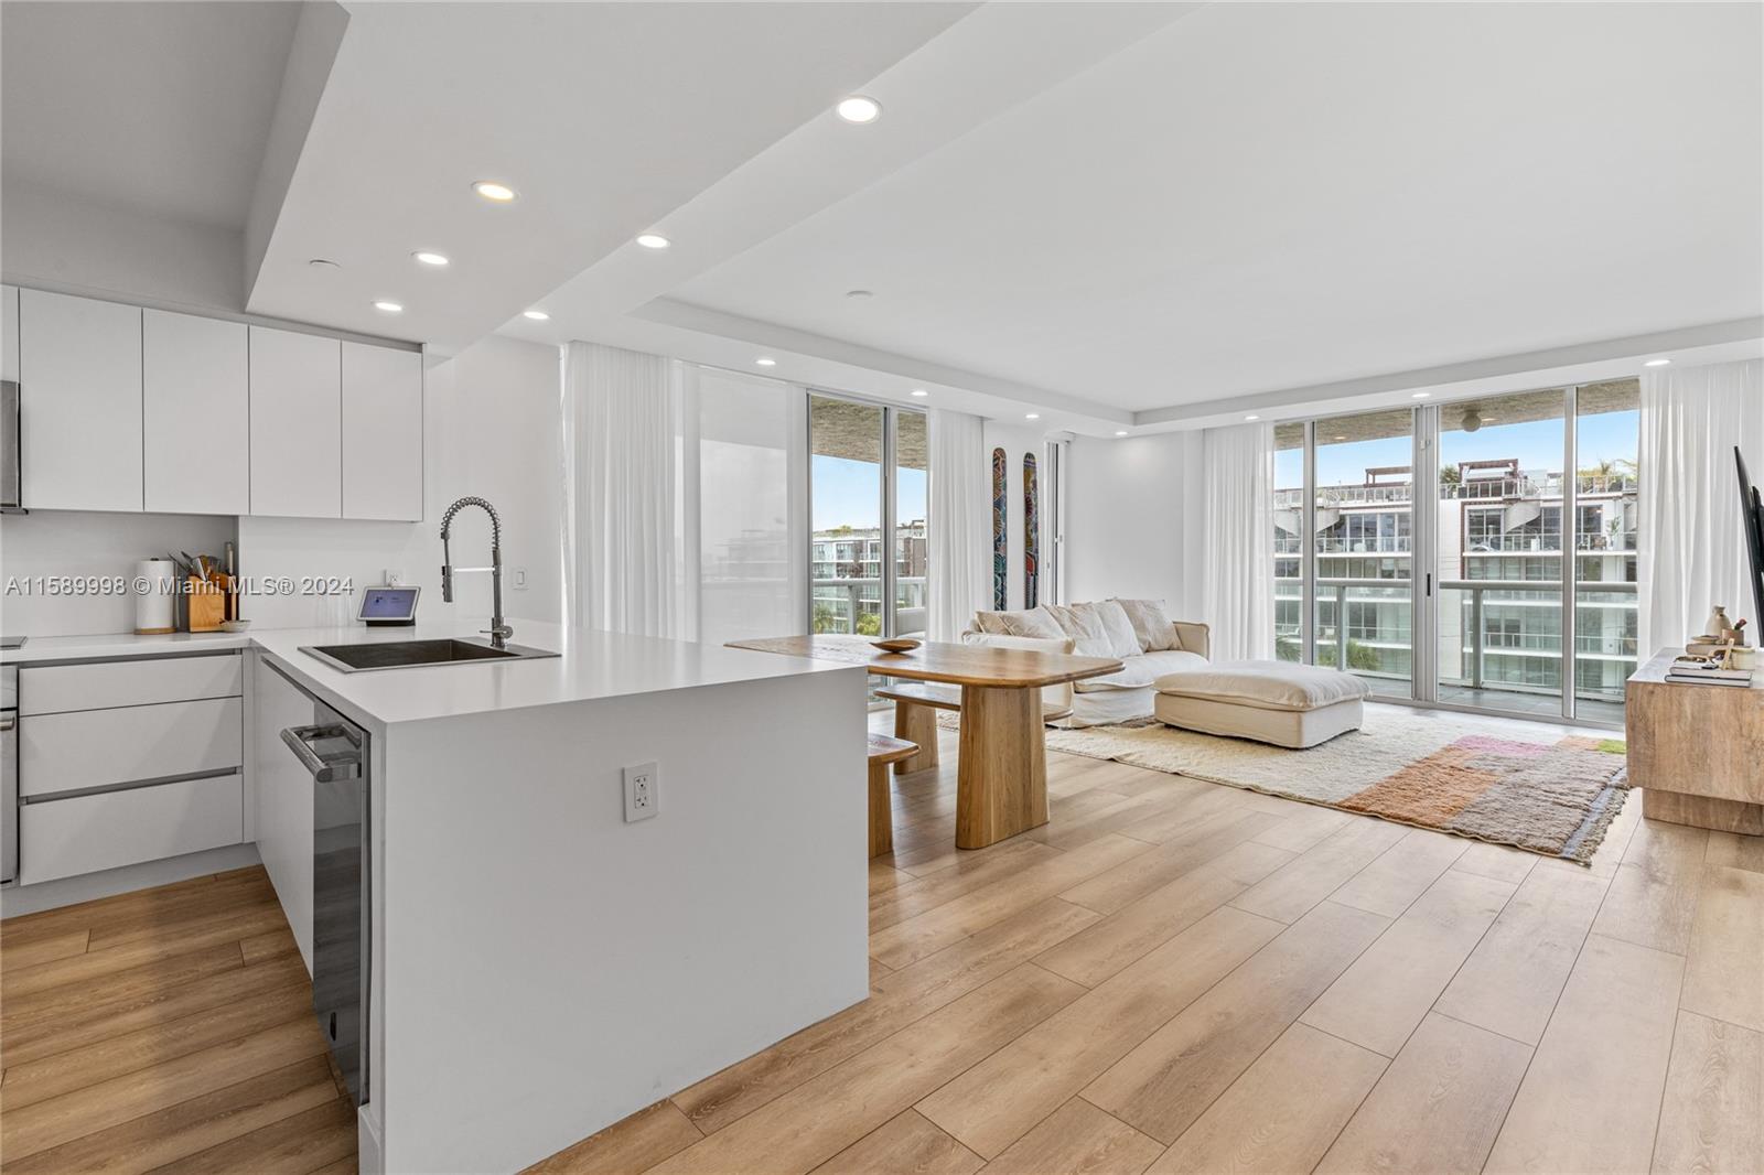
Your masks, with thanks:
[{"label": "white upper cabinet door directly above the knife block", "polygon": [[143,311],[146,510],[250,513],[250,358],[243,323]]}]

